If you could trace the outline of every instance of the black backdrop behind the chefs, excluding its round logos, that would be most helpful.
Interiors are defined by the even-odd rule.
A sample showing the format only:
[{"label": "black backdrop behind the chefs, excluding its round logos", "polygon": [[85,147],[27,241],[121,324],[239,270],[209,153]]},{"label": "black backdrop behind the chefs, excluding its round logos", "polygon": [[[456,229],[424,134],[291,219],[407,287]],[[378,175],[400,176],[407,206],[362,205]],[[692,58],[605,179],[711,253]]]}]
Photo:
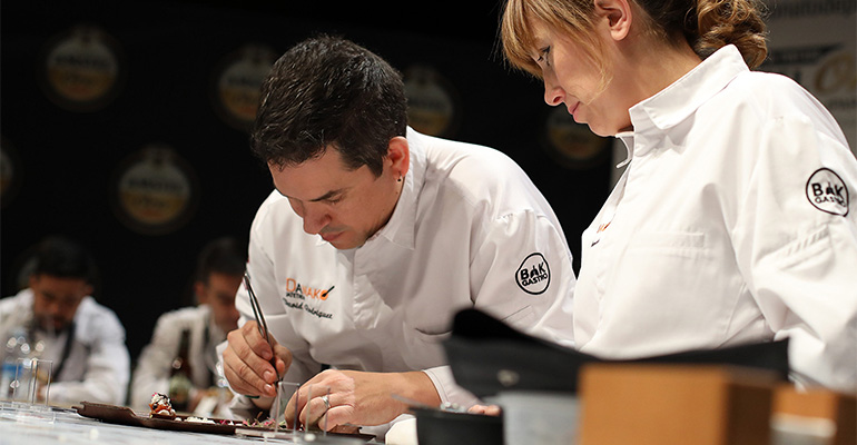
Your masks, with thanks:
[{"label": "black backdrop behind the chefs, excluding its round logos", "polygon": [[[578,269],[579,236],[609,192],[611,162],[607,157],[570,169],[548,156],[539,140],[550,108],[540,82],[511,72],[495,55],[495,1],[427,2],[418,12],[375,4],[383,2],[289,3],[0,3],[0,132],[14,155],[17,178],[0,211],[3,296],[17,291],[22,259],[40,238],[75,237],[95,254],[96,297],[120,317],[136,357],[158,315],[190,303],[199,248],[223,235],[246,240],[270,191],[247,135],[213,109],[214,67],[247,42],[282,53],[318,31],[355,40],[396,68],[418,62],[442,72],[461,100],[460,125],[450,137],[498,148],[529,172],[560,217]],[[39,83],[45,47],[81,22],[112,36],[127,63],[120,93],[89,112],[58,107]],[[152,142],[171,146],[199,184],[193,218],[157,236],[129,229],[110,204],[117,166]]]}]

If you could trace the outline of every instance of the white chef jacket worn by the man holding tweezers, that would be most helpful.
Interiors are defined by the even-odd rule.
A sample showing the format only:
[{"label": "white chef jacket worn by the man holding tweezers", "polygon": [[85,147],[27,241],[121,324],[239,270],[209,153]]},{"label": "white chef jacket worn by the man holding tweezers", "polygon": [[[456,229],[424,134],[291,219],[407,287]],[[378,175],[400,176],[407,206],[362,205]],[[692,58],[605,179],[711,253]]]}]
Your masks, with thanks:
[{"label": "white chef jacket worn by the man holding tweezers", "polygon": [[[513,327],[571,342],[571,251],[553,210],[494,149],[407,131],[410,170],[390,221],[337,250],[307,235],[274,191],[250,229],[248,271],[268,328],[293,354],[285,380],[323,364],[424,370],[443,402],[472,404],[440,340],[476,307]],[[253,319],[246,288],[236,307]]]}]

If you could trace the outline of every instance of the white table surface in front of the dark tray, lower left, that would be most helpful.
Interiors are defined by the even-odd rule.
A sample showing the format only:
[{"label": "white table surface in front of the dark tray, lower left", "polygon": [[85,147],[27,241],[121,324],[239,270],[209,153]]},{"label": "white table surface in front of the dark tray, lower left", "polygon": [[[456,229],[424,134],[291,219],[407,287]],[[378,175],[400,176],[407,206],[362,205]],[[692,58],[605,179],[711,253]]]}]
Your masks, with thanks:
[{"label": "white table surface in front of the dark tray, lower left", "polygon": [[0,407],[0,445],[110,444],[110,445],[236,445],[292,443],[279,438],[154,429],[104,423],[72,409],[30,411]]}]

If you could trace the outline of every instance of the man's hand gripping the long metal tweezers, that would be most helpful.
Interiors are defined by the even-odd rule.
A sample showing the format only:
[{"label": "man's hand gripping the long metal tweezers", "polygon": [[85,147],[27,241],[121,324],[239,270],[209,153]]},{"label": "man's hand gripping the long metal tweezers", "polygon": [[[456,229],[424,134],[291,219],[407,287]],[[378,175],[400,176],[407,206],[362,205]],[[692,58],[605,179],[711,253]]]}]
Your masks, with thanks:
[{"label": "man's hand gripping the long metal tweezers", "polygon": [[[227,347],[224,350],[224,376],[229,386],[238,393],[248,396],[274,397],[277,375],[284,375],[292,365],[292,352],[277,344],[272,337],[274,350],[259,334],[256,322],[247,322],[244,326],[227,335]],[[276,370],[270,365],[276,356]],[[270,405],[266,400],[263,405]]]}]

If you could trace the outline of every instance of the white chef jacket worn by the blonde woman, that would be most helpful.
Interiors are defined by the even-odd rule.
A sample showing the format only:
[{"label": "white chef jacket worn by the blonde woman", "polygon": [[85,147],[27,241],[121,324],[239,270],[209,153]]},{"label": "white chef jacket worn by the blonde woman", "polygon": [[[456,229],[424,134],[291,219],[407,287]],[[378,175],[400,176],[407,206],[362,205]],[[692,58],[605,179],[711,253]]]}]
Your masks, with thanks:
[{"label": "white chef jacket worn by the blonde woman", "polygon": [[628,168],[582,236],[578,346],[789,337],[795,380],[857,389],[857,162],[829,112],[728,46],[630,115]]}]

